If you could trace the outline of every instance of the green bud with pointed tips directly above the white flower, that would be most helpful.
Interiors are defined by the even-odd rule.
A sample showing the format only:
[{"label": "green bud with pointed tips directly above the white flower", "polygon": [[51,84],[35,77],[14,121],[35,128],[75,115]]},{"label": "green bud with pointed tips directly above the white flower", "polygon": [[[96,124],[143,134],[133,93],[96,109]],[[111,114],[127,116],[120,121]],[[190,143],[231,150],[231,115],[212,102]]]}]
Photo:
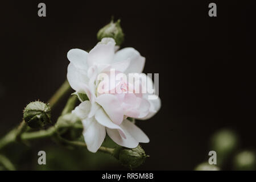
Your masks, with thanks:
[{"label": "green bud with pointed tips directly above the white flower", "polygon": [[113,38],[117,46],[120,46],[124,39],[124,34],[120,26],[120,19],[117,22],[113,22],[113,19],[105,27],[98,31],[97,39],[101,41],[103,38]]}]

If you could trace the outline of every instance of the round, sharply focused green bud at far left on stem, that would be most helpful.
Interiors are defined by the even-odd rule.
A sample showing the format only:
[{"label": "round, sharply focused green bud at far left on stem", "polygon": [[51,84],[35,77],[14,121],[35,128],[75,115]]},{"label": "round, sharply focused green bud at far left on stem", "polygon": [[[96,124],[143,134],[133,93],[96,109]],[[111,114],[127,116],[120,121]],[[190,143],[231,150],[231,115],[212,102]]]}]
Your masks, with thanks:
[{"label": "round, sharply focused green bud at far left on stem", "polygon": [[43,102],[30,102],[23,111],[23,118],[31,128],[40,128],[51,123],[51,109]]}]

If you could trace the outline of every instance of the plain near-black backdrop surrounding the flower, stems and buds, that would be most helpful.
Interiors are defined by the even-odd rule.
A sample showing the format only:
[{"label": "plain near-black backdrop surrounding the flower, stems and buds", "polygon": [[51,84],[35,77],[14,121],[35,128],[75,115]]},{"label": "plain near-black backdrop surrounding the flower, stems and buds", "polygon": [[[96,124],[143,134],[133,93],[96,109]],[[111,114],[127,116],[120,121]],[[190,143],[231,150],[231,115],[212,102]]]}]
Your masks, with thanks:
[{"label": "plain near-black backdrop surrounding the flower, stems and buds", "polygon": [[[159,73],[162,108],[137,122],[150,137],[142,144],[150,158],[139,169],[193,169],[208,158],[209,138],[222,128],[237,132],[241,148],[255,147],[253,1],[42,2],[45,18],[38,17],[40,1],[1,2],[1,135],[21,121],[29,102],[52,96],[67,76],[69,49],[92,48],[97,31],[114,15],[125,32],[122,47],[146,57],[144,73]],[[208,16],[210,2],[217,4],[217,17]],[[47,169],[126,169],[111,157],[106,164],[91,157],[108,155],[69,151],[49,140],[6,153],[18,169],[43,169],[39,150],[52,155]]]}]

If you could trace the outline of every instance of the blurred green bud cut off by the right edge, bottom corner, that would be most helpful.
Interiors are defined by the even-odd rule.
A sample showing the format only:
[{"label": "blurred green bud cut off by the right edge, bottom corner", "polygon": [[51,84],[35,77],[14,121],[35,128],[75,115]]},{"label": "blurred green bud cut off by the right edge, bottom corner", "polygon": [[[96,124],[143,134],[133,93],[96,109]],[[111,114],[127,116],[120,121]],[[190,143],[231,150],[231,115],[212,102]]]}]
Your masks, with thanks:
[{"label": "blurred green bud cut off by the right edge, bottom corner", "polygon": [[255,170],[256,160],[253,151],[242,151],[234,158],[234,168],[237,170]]}]

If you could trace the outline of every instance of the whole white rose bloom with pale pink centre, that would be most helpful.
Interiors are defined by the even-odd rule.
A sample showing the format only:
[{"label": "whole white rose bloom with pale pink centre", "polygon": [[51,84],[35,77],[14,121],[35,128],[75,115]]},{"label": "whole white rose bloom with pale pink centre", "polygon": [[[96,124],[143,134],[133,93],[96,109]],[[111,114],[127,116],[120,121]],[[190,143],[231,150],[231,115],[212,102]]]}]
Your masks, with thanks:
[{"label": "whole white rose bloom with pale pink centre", "polygon": [[[81,49],[68,52],[71,62],[67,73],[69,84],[76,93],[86,93],[89,98],[73,113],[82,119],[85,143],[91,152],[100,148],[106,133],[115,143],[128,148],[137,147],[139,142],[149,142],[146,134],[127,117],[148,119],[160,109],[158,97],[148,100],[148,93],[135,92],[146,86],[141,77],[146,78],[147,86],[152,88],[153,85],[151,78],[136,74],[142,73],[145,58],[134,48],[117,52],[115,49],[114,39],[104,38],[89,53]],[[113,70],[114,77],[111,76]],[[119,73],[124,74],[117,78]],[[133,73],[135,82],[139,83],[137,86],[125,79],[128,73]],[[110,79],[102,80],[102,74]]]}]

